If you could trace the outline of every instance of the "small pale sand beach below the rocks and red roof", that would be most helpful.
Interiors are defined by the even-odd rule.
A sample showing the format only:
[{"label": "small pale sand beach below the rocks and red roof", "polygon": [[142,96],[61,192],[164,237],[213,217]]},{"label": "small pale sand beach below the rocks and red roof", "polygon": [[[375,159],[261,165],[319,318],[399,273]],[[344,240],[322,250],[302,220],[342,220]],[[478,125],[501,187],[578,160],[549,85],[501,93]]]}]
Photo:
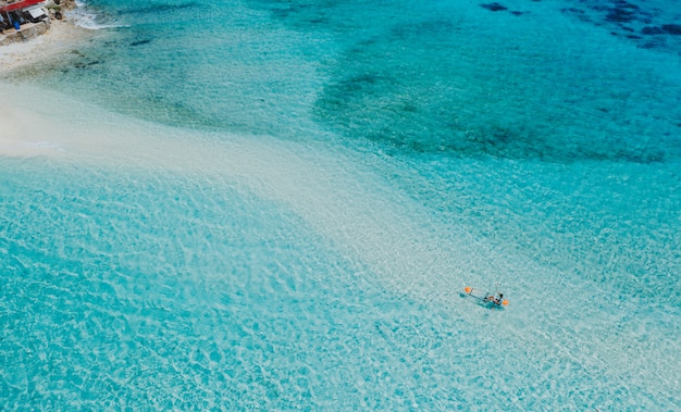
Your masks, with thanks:
[{"label": "small pale sand beach below the rocks and red roof", "polygon": [[95,30],[53,18],[49,30],[30,40],[0,46],[0,80],[8,74],[75,50]]}]

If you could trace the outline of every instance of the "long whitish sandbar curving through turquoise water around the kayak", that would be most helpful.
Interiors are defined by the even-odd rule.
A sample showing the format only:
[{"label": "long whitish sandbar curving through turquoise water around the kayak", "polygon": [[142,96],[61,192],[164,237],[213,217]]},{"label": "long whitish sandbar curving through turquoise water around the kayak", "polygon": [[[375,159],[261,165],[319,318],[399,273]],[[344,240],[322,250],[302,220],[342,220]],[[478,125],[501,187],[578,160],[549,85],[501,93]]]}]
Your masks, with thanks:
[{"label": "long whitish sandbar curving through turquoise water around the kayak", "polygon": [[[18,93],[18,87],[0,84],[0,95]],[[649,345],[644,354],[634,342],[641,338],[645,320],[631,326],[632,336],[608,339],[612,324],[636,311],[635,307],[617,302],[604,312],[602,302],[572,299],[598,294],[597,286],[574,284],[560,275],[527,276],[550,270],[527,257],[495,250],[484,239],[472,239],[463,225],[438,226],[421,207],[354,162],[351,154],[325,153],[261,136],[213,139],[194,130],[127,118],[25,85],[21,96],[14,103],[0,103],[0,159],[61,158],[114,171],[170,171],[237,182],[246,190],[294,210],[389,289],[448,305],[453,317],[481,321],[479,312],[458,304],[453,285],[471,280],[478,285],[505,271],[516,300],[503,322],[488,322],[506,336],[509,350],[525,347],[546,358],[560,352],[615,382],[634,376],[630,383],[635,382],[634,387],[657,377],[651,384],[656,389],[648,389],[660,396],[672,394],[679,382],[678,369],[669,363],[677,344],[666,335],[668,322],[644,328]],[[502,261],[510,265],[497,267]],[[547,299],[564,303],[556,307]],[[544,310],[537,311],[537,304]],[[577,313],[581,315],[575,317]],[[668,321],[672,320],[673,315]],[[589,337],[578,338],[580,330],[587,330]],[[627,385],[627,378],[623,380]]]}]

